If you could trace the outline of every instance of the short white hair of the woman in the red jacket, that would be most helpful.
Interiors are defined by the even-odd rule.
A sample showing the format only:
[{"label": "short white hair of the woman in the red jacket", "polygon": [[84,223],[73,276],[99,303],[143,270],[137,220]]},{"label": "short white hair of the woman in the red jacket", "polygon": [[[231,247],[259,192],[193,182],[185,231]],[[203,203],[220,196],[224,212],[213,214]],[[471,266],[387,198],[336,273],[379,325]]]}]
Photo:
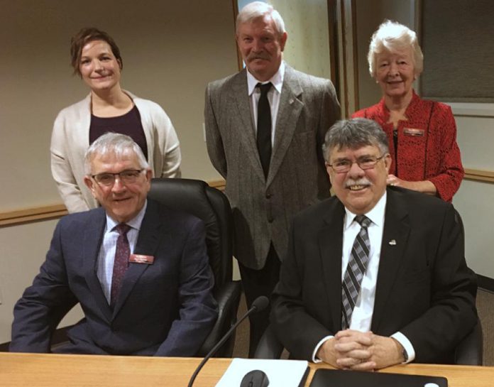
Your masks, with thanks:
[{"label": "short white hair of the woman in the red jacket", "polygon": [[367,60],[369,62],[369,72],[371,77],[375,77],[377,71],[376,56],[388,50],[391,53],[396,51],[412,49],[412,60],[415,75],[420,75],[424,70],[424,55],[417,40],[417,34],[407,26],[403,26],[396,21],[385,20],[370,39]]}]

